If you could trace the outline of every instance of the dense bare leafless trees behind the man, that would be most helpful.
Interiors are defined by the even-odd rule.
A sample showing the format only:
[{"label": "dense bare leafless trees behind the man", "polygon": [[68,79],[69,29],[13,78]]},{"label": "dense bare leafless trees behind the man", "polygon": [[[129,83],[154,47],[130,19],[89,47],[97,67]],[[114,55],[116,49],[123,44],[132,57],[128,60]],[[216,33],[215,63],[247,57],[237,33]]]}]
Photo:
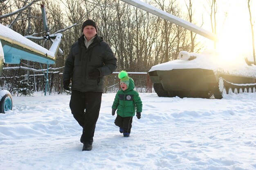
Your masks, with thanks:
[{"label": "dense bare leafless trees behind the man", "polygon": [[[186,3],[187,13],[181,10],[178,0],[149,3],[193,22],[191,0]],[[52,68],[64,66],[70,46],[82,35],[81,25],[87,19],[97,22],[97,33],[115,53],[116,71],[147,72],[153,65],[177,59],[180,51],[199,52],[205,48],[197,42],[195,33],[119,0],[0,0],[0,23],[21,35],[39,37],[30,40],[49,49],[51,43],[43,40],[46,32],[40,4],[46,8],[49,33],[63,35],[60,45],[63,54],[58,53]],[[47,68],[45,64],[28,61],[21,61],[20,65]],[[10,66],[17,65],[6,64]],[[16,69],[3,72],[7,77],[27,74]]]}]

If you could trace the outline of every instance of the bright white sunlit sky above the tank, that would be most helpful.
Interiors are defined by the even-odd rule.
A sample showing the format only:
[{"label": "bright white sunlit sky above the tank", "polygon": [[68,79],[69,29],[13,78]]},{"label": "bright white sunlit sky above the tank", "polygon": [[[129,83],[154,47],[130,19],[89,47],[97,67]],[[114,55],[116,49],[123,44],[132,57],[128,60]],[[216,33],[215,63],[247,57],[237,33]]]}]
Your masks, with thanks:
[{"label": "bright white sunlit sky above the tank", "polygon": [[[133,1],[139,2],[139,0]],[[155,6],[156,4],[153,0],[141,1],[151,4],[152,6]],[[211,32],[211,19],[209,15],[211,8],[208,1],[211,0],[192,0],[193,24]],[[169,1],[165,0],[163,2],[168,5]],[[182,11],[186,15],[188,13],[186,3],[189,4],[189,0],[178,0],[175,2],[179,7],[181,7]],[[162,1],[160,3],[162,3]],[[252,23],[254,24],[256,19],[256,13],[254,10],[256,8],[255,0],[251,0],[250,5]],[[186,17],[184,16],[184,18],[181,19],[186,20]],[[252,31],[249,22],[247,0],[217,1],[216,24],[216,34],[218,38],[216,42],[216,49],[219,53],[222,53],[222,55],[225,55],[231,60],[238,55],[252,55]],[[256,33],[256,28],[254,28],[254,32]],[[197,42],[199,42],[199,44],[204,44],[204,49],[215,48],[212,40],[209,40],[199,34],[197,36]]]}]

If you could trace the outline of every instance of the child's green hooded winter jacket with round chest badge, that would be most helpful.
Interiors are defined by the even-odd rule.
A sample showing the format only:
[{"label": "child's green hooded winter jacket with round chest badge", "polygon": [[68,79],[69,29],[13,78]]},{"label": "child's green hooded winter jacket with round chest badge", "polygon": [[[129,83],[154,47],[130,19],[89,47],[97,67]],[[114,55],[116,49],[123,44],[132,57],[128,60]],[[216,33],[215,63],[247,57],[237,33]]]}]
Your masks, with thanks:
[{"label": "child's green hooded winter jacket with round chest badge", "polygon": [[125,91],[119,90],[115,96],[112,108],[117,109],[117,115],[131,117],[135,112],[142,112],[142,102],[139,93],[134,89],[133,79],[129,79],[129,86]]}]

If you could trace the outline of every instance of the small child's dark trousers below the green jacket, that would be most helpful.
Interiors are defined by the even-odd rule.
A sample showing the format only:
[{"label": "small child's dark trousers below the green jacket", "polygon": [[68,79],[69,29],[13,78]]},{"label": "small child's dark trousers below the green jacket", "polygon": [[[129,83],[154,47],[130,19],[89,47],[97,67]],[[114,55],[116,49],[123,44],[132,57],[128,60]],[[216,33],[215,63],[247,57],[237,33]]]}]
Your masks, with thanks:
[{"label": "small child's dark trousers below the green jacket", "polygon": [[132,117],[121,117],[117,115],[115,119],[115,125],[124,129],[125,133],[130,133],[132,128]]}]

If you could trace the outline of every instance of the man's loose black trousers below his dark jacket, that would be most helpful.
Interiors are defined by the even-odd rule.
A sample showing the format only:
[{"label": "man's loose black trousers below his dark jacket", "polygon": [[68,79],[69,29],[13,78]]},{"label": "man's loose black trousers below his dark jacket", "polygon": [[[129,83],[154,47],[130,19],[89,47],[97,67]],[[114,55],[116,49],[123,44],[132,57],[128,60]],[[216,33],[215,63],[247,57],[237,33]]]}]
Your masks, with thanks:
[{"label": "man's loose black trousers below his dark jacket", "polygon": [[101,96],[101,92],[72,91],[70,109],[76,121],[83,127],[80,139],[82,143],[92,144],[93,142],[94,130],[101,108]]}]

